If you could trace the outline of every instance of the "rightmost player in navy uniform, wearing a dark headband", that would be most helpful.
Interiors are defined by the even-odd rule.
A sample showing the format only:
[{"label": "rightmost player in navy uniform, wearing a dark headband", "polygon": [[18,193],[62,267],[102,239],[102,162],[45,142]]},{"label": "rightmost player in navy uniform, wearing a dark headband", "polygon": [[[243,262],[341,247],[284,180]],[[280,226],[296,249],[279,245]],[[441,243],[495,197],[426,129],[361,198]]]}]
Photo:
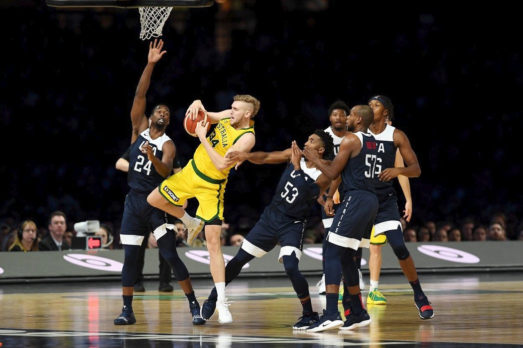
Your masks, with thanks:
[{"label": "rightmost player in navy uniform, wearing a dark headband", "polygon": [[[414,260],[403,240],[400,214],[397,208],[397,195],[393,187],[393,179],[398,175],[418,177],[421,173],[418,159],[412,150],[411,143],[403,131],[389,125],[392,121],[393,107],[389,98],[376,95],[369,99],[369,106],[374,112],[374,121],[369,126],[370,133],[378,143],[378,154],[382,159],[383,171],[380,180],[376,181],[376,195],[379,200],[379,210],[374,227],[374,235],[385,234],[394,254],[400,262],[401,269],[414,290],[414,301],[419,310],[419,317],[430,319],[434,317],[434,309],[425,296],[419,283]],[[395,167],[396,151],[399,150],[405,166]]]}]

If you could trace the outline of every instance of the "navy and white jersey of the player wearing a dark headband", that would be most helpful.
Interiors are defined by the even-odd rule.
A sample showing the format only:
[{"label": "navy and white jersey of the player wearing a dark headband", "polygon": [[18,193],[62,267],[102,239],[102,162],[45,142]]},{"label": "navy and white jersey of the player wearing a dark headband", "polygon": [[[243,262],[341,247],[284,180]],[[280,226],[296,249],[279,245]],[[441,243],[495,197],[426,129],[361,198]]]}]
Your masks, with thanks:
[{"label": "navy and white jersey of the player wearing a dark headband", "polygon": [[[382,170],[387,168],[394,168],[394,162],[396,160],[396,150],[397,148],[394,146],[394,139],[393,134],[394,130],[396,128],[390,125],[386,125],[385,129],[380,134],[373,134],[370,130],[369,133],[372,134],[374,139],[376,139],[376,148],[378,150],[378,158],[379,163],[377,163],[377,171],[379,174]],[[389,182],[383,182],[378,179],[378,176],[376,176],[376,179],[374,181],[374,185],[376,186],[376,194],[378,195],[378,199],[381,202],[381,198],[385,199],[389,196],[390,193],[395,192],[395,189],[393,187],[394,182],[396,181],[396,178],[392,179]]]}]

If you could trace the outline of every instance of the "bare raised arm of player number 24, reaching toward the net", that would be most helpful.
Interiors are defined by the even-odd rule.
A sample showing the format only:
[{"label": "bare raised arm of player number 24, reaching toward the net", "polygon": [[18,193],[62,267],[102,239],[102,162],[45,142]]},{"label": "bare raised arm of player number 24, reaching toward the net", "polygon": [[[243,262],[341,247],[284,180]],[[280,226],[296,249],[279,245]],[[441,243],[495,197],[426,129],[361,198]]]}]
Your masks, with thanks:
[{"label": "bare raised arm of player number 24, reaching toward the net", "polygon": [[149,43],[149,55],[147,56],[147,65],[143,70],[138,87],[134,92],[134,100],[131,108],[131,123],[132,123],[132,136],[131,143],[138,139],[140,133],[149,127],[149,118],[145,115],[145,94],[151,83],[151,75],[153,73],[154,65],[160,61],[160,58],[167,52],[162,51],[163,41],[157,42],[154,39],[153,42]]}]

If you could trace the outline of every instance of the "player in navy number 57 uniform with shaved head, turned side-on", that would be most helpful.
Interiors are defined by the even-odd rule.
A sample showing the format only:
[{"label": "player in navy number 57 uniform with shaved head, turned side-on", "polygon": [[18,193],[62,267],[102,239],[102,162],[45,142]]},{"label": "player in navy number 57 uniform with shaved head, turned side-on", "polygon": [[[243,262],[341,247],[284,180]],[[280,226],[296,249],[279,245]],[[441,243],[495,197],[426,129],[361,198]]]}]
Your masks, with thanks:
[{"label": "player in navy number 57 uniform with shaved head, turned side-on", "polygon": [[[336,210],[334,221],[327,235],[325,250],[325,296],[327,306],[320,320],[306,328],[308,332],[320,332],[341,327],[351,330],[369,325],[372,321],[363,307],[359,288],[358,266],[355,261],[359,247],[369,247],[372,225],[378,212],[378,198],[374,188],[374,176],[378,176],[380,163],[376,139],[367,133],[373,113],[368,105],[356,105],[347,117],[347,130],[339,146],[339,152],[331,165],[308,149],[303,150],[306,159],[332,180],[341,175],[344,183],[344,200]],[[332,206],[331,206],[332,207]],[[332,211],[327,211],[329,213]],[[350,294],[350,313],[345,323],[338,311],[339,283],[343,277]]]}]

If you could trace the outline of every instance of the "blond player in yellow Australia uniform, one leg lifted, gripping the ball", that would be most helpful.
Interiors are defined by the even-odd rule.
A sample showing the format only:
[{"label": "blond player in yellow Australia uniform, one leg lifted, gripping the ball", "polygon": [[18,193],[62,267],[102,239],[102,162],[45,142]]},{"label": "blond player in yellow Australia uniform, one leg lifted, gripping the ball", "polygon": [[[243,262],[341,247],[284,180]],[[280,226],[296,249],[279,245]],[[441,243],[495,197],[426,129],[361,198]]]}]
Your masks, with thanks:
[{"label": "blond player in yellow Australia uniform, one leg lifted, gripping the ball", "polygon": [[[231,323],[230,303],[225,297],[225,262],[223,259],[220,233],[223,221],[223,196],[225,185],[235,161],[225,158],[230,151],[249,152],[254,146],[254,121],[260,102],[251,95],[236,95],[230,110],[207,112],[200,100],[195,100],[186,115],[192,119],[198,110],[207,112],[207,123],[198,123],[196,134],[201,144],[194,158],[181,172],[163,181],[154,189],[147,201],[152,206],[174,215],[188,227],[187,242],[194,241],[205,224],[205,238],[210,256],[210,269],[218,293],[218,321]],[[217,124],[208,138],[208,123]],[[199,202],[196,215],[192,218],[182,208],[184,202],[196,197]]]}]

